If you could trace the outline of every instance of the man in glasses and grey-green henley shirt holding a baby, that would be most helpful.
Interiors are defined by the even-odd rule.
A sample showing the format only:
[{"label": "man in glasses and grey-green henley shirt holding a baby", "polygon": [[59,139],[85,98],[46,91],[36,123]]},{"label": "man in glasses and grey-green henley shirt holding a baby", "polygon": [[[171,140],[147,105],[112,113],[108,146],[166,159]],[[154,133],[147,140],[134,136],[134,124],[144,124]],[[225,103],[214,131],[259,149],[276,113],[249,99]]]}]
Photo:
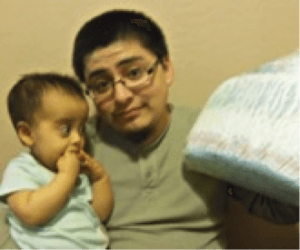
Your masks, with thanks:
[{"label": "man in glasses and grey-green henley shirt holding a baby", "polygon": [[[186,167],[185,140],[199,110],[168,103],[174,69],[160,28],[133,11],[97,16],[76,37],[73,66],[97,110],[90,150],[112,180],[111,249],[226,248],[228,187]],[[232,190],[251,213],[298,220],[298,208]]]}]

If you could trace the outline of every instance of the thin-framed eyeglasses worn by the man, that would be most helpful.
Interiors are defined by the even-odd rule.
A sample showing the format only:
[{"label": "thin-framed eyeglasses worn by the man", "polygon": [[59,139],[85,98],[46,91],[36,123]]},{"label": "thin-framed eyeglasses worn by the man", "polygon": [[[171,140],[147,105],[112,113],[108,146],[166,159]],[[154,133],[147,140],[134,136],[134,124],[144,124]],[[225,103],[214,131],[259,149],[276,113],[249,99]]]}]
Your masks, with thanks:
[{"label": "thin-framed eyeglasses worn by the man", "polygon": [[150,67],[137,63],[132,64],[123,70],[121,79],[117,81],[114,81],[113,77],[108,74],[91,77],[85,93],[92,98],[105,101],[113,97],[114,86],[120,81],[130,90],[146,88],[152,82],[151,77],[154,75],[158,63],[159,59]]}]

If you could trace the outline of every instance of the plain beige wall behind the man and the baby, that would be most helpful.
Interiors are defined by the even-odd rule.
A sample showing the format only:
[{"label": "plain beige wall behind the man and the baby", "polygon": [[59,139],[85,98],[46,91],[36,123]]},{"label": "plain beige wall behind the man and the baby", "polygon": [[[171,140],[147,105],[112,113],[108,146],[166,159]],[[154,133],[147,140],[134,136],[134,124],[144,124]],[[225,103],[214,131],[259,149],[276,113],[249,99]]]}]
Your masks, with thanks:
[{"label": "plain beige wall behind the man and the baby", "polygon": [[1,0],[0,168],[21,149],[6,111],[11,86],[31,71],[72,73],[79,27],[123,7],[165,31],[176,69],[171,101],[180,105],[202,106],[224,79],[299,46],[299,0]]}]

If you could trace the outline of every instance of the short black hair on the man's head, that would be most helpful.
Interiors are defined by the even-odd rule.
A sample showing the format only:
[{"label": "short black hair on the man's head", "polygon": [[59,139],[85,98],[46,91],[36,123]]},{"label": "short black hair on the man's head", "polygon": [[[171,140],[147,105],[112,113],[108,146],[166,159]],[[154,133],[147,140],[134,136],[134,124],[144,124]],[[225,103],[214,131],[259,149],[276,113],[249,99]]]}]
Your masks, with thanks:
[{"label": "short black hair on the man's head", "polygon": [[164,34],[149,17],[136,11],[108,11],[88,21],[75,38],[73,68],[80,81],[85,80],[84,60],[87,55],[126,39],[136,39],[160,61],[168,55]]}]

